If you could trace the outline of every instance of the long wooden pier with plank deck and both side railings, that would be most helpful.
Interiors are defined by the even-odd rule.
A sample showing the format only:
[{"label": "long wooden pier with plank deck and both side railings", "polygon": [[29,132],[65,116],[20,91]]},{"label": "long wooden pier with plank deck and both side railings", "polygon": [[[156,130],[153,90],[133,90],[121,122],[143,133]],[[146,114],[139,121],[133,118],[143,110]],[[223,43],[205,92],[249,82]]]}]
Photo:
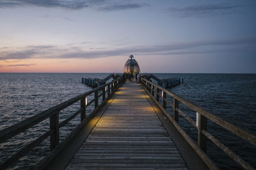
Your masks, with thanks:
[{"label": "long wooden pier with plank deck and both side railings", "polygon": [[[90,95],[94,97],[89,100]],[[79,103],[79,110],[60,122],[61,110],[75,103]],[[179,103],[195,111],[196,121],[179,109]],[[87,113],[91,104],[94,110]],[[173,108],[173,113],[166,110],[167,105]],[[79,117],[80,123],[60,141],[61,127],[74,117]],[[179,117],[195,126],[198,141],[180,128]],[[207,155],[207,141],[212,141],[244,169],[254,169],[207,131],[207,121],[254,146],[255,136],[144,78],[140,83],[119,78],[85,92],[3,129],[0,142],[47,119],[49,130],[1,162],[0,169],[12,166],[48,137],[51,153],[36,169],[218,169]]]}]

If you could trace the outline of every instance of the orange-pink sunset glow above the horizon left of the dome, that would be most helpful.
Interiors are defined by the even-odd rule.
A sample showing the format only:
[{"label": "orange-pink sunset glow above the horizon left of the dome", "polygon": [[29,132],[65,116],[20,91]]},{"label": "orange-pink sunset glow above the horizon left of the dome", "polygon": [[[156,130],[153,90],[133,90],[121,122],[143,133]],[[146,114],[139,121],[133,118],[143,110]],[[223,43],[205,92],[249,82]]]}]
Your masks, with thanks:
[{"label": "orange-pink sunset glow above the horizon left of the dome", "polygon": [[116,73],[122,72],[124,60],[123,57],[0,60],[0,73]]}]

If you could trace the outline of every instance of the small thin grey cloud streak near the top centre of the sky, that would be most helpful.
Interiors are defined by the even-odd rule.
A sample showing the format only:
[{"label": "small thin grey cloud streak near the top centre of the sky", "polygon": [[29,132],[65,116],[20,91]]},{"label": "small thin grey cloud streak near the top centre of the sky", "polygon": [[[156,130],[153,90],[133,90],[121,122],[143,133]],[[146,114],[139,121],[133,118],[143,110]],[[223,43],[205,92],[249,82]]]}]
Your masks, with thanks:
[{"label": "small thin grey cloud streak near the top centre of the sky", "polygon": [[106,5],[103,7],[98,8],[98,10],[101,11],[117,11],[117,10],[130,10],[130,9],[136,9],[136,8],[142,8],[143,6],[147,6],[147,4],[112,4],[112,5]]}]

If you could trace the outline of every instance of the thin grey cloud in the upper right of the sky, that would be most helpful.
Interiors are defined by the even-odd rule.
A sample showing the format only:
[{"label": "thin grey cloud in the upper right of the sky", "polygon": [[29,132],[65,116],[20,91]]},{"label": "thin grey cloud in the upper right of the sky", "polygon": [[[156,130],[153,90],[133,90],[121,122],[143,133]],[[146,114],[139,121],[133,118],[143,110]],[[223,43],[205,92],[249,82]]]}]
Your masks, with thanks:
[{"label": "thin grey cloud in the upper right of the sky", "polygon": [[165,11],[173,17],[214,17],[228,13],[236,13],[243,6],[228,4],[201,4],[186,6],[184,8],[167,8]]}]

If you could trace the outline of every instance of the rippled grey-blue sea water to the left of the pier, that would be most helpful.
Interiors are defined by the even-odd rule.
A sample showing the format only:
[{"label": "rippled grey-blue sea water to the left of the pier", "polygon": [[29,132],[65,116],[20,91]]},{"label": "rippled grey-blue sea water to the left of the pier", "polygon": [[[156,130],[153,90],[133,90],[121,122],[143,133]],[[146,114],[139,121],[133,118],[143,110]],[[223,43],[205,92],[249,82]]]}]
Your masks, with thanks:
[{"label": "rippled grey-blue sea water to the left of the pier", "polygon": [[[109,73],[0,73],[0,130],[89,90],[82,77],[105,78]],[[88,100],[93,98],[88,97]],[[60,122],[79,110],[79,102],[60,112]],[[93,110],[93,104],[86,112]],[[79,123],[79,116],[60,129],[60,141]],[[0,162],[49,131],[49,118],[0,144]],[[27,137],[29,136],[29,138]],[[33,169],[49,152],[49,138],[11,169]]]}]

